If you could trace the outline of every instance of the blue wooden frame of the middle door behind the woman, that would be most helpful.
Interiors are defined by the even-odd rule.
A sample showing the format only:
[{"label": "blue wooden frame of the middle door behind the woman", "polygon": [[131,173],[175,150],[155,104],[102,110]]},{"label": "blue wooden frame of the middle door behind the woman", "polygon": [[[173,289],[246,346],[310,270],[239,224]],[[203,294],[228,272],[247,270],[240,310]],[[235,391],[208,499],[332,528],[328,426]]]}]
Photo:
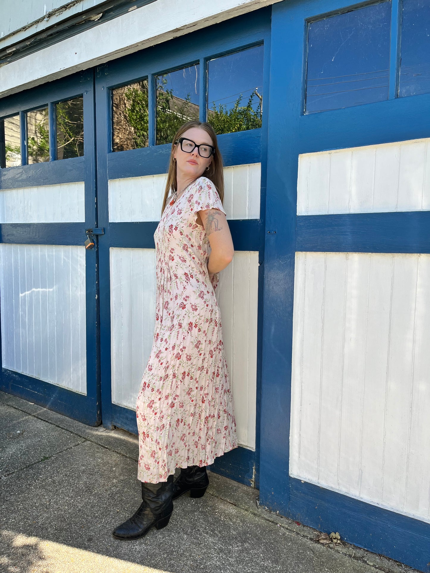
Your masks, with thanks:
[{"label": "blue wooden frame of the middle door behind the woman", "polygon": [[[232,53],[253,45],[270,44],[270,9],[234,18],[187,35],[148,48],[142,52],[109,62],[97,68],[97,181],[99,184],[99,224],[106,234],[100,241],[100,307],[101,325],[101,401],[103,424],[123,427],[137,433],[134,410],[111,401],[111,324],[110,324],[110,246],[154,248],[154,230],[157,222],[110,223],[108,221],[108,179],[165,173],[169,162],[170,145],[155,146],[155,76],[166,70],[181,68],[190,62],[200,62],[200,119],[206,119],[206,63],[212,57]],[[263,89],[268,99],[269,50],[264,53]],[[111,152],[110,90],[138,79],[148,78],[149,87],[149,146],[142,149]],[[265,181],[265,156],[267,146],[267,115],[260,129],[225,134],[218,143],[226,166],[261,161],[262,182]],[[236,250],[257,250],[259,261],[264,258],[264,204],[265,185],[261,189],[259,219],[229,221]],[[138,229],[138,233],[136,230]],[[136,238],[138,236],[139,238]],[[260,431],[260,364],[262,326],[263,265],[259,268],[259,314],[257,317],[257,419],[256,451],[237,448],[216,459],[212,470],[223,473],[245,484],[259,485],[259,431]]]}]

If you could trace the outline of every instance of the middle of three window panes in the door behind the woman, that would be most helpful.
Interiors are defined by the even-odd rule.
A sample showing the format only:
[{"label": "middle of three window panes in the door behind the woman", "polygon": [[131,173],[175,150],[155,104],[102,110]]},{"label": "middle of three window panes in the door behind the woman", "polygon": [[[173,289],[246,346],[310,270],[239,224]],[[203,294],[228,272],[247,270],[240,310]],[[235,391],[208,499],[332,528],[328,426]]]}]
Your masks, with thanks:
[{"label": "middle of three window panes in the door behind the woman", "polygon": [[185,121],[198,120],[199,67],[157,76],[157,145],[171,143]]}]

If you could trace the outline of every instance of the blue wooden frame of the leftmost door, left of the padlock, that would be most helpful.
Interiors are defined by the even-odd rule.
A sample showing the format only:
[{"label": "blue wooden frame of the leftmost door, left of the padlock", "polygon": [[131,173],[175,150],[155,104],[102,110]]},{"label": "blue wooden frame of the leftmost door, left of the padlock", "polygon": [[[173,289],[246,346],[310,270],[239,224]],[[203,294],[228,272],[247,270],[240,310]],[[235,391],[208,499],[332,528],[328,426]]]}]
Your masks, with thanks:
[{"label": "blue wooden frame of the leftmost door, left of the padlock", "polygon": [[[84,156],[54,160],[56,157],[54,116],[52,115],[54,104],[81,94],[84,98]],[[25,112],[42,105],[48,105],[50,111],[50,161],[28,165],[26,164]],[[0,169],[0,189],[83,181],[85,222],[3,223],[0,225],[0,242],[30,245],[83,245],[87,238],[85,229],[97,226],[93,70],[73,74],[63,80],[44,84],[0,100],[0,117],[16,112],[19,112],[21,116],[21,155],[24,160],[22,166]],[[96,243],[95,249],[85,251],[87,394],[76,393],[6,368],[0,369],[1,390],[49,407],[60,414],[92,426],[99,425],[101,421],[97,256]]]}]

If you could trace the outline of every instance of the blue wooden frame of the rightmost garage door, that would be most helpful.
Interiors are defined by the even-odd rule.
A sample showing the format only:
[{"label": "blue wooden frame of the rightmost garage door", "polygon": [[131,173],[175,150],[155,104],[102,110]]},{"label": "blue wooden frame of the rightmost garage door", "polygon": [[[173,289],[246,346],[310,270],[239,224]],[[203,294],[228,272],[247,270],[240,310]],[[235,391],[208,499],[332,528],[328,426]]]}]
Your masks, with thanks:
[{"label": "blue wooden frame of the rightmost garage door", "polygon": [[[295,252],[428,253],[430,246],[429,212],[296,215],[299,154],[430,136],[425,112],[430,95],[397,98],[395,78],[390,78],[386,101],[303,114],[306,22],[352,4],[290,0],[272,6],[260,501],[301,523],[339,531],[350,543],[429,571],[430,524],[289,476]],[[390,70],[398,73],[397,0],[392,10],[397,36],[391,40]]]}]

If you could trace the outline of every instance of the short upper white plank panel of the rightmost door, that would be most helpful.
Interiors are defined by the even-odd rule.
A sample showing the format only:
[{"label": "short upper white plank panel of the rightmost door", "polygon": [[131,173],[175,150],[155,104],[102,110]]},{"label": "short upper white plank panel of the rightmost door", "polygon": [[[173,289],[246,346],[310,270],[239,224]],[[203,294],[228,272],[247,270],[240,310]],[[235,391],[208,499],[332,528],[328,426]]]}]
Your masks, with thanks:
[{"label": "short upper white plank panel of the rightmost door", "polygon": [[430,209],[430,139],[299,155],[297,214]]}]

